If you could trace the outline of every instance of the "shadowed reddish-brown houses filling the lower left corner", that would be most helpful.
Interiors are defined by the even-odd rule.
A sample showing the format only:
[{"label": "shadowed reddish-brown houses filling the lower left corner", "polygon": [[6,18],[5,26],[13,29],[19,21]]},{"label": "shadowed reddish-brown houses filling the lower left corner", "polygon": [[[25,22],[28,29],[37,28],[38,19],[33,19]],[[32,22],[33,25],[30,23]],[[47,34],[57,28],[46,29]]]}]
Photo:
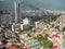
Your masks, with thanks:
[{"label": "shadowed reddish-brown houses filling the lower left corner", "polygon": [[[15,47],[16,46],[16,47]],[[10,30],[8,27],[0,27],[0,49],[30,49],[24,44],[21,44],[15,34]]]}]

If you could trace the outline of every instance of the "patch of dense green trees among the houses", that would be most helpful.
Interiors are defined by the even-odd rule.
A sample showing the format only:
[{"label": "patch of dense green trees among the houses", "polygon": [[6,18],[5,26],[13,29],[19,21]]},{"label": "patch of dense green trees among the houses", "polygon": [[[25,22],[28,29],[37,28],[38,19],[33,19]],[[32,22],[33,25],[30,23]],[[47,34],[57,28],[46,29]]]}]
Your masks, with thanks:
[{"label": "patch of dense green trees among the houses", "polygon": [[48,39],[48,36],[42,36],[42,35],[38,35],[37,37],[34,37],[34,39],[37,39],[42,46],[43,48],[52,48],[52,42]]}]

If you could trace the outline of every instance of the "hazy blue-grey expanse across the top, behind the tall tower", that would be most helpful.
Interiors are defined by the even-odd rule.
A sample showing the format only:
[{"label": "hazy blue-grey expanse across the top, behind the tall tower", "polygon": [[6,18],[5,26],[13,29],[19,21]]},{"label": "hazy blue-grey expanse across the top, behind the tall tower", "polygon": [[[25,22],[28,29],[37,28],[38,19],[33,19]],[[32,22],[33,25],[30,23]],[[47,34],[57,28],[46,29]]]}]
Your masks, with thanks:
[{"label": "hazy blue-grey expanse across the top, behind the tall tower", "polygon": [[[49,9],[49,10],[60,10],[65,11],[64,0],[21,0],[22,9]],[[4,0],[1,2],[0,7],[3,10],[13,11],[14,0]],[[4,9],[5,8],[5,9]]]}]

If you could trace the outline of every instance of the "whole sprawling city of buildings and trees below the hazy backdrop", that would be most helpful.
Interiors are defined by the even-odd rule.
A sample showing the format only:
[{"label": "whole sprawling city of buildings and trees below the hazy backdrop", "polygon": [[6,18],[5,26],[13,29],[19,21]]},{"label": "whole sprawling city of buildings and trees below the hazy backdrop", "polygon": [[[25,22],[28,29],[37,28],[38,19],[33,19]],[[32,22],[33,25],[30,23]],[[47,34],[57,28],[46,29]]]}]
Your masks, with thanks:
[{"label": "whole sprawling city of buildings and trees below the hazy backdrop", "polygon": [[65,49],[65,12],[26,10],[0,12],[0,49]]}]

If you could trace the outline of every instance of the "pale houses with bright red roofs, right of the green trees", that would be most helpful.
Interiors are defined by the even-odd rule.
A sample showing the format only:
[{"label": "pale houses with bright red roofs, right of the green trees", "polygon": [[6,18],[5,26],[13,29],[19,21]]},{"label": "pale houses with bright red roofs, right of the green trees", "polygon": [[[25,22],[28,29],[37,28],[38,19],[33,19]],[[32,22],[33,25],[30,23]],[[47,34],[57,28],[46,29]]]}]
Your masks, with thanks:
[{"label": "pale houses with bright red roofs, right of the green trees", "polygon": [[65,35],[63,35],[62,33],[52,30],[51,34],[48,34],[47,30],[43,30],[41,33],[31,34],[31,36],[37,35],[48,35],[48,39],[53,44],[53,49],[65,49]]}]

